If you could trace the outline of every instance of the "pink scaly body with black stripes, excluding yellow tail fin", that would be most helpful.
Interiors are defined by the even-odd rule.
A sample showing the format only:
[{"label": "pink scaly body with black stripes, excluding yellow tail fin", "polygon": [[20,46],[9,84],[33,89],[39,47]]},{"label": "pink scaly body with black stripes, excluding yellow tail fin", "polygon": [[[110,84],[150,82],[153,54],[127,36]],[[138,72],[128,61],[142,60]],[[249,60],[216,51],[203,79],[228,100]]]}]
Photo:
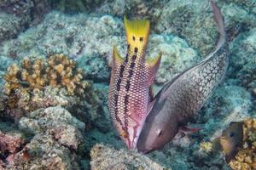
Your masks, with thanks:
[{"label": "pink scaly body with black stripes, excluding yellow tail fin", "polygon": [[149,102],[152,74],[143,50],[130,48],[123,62],[114,64],[109,88],[109,110],[114,126],[128,148],[135,148]]}]

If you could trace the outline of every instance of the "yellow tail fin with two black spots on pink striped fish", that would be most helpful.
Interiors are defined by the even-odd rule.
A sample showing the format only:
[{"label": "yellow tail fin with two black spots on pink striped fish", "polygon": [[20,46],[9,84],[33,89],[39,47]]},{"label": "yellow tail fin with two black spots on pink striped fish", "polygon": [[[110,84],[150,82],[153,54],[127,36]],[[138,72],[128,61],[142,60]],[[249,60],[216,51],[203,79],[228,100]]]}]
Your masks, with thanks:
[{"label": "yellow tail fin with two black spots on pink striped fish", "polygon": [[128,44],[132,48],[142,49],[147,46],[150,31],[149,20],[127,20],[125,16],[125,31]]}]

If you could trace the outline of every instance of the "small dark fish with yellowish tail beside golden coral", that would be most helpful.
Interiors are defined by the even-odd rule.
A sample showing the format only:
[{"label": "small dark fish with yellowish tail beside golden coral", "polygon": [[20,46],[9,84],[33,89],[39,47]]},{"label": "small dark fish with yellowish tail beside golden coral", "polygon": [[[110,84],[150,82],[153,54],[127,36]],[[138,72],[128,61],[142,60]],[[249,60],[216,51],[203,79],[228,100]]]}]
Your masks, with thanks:
[{"label": "small dark fish with yellowish tail beside golden coral", "polygon": [[230,122],[221,137],[212,141],[212,150],[223,150],[225,161],[229,163],[235,158],[238,150],[242,147],[244,122]]}]

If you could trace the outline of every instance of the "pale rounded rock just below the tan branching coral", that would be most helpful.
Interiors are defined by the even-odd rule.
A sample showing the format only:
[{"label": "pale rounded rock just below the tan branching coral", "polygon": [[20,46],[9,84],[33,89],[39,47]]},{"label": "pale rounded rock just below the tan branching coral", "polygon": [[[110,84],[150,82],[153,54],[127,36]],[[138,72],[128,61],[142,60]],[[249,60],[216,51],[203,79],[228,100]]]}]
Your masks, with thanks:
[{"label": "pale rounded rock just below the tan branching coral", "polygon": [[77,150],[82,141],[84,122],[61,107],[49,107],[33,111],[28,117],[22,117],[19,127],[25,133],[42,133],[53,136],[57,143],[73,150]]}]

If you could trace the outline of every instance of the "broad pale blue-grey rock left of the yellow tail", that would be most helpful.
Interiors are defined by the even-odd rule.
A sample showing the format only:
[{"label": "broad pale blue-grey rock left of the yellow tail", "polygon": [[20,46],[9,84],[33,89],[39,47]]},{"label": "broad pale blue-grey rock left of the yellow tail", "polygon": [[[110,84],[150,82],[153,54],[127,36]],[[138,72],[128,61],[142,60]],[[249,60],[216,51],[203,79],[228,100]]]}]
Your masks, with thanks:
[{"label": "broad pale blue-grey rock left of the yellow tail", "polygon": [[125,37],[119,36],[120,25],[120,20],[109,15],[69,16],[52,12],[40,25],[20,34],[17,39],[4,42],[0,54],[19,54],[20,58],[67,54],[73,59],[81,58],[79,67],[84,68],[87,77],[107,81],[108,58],[112,56],[113,44],[125,42]]}]

